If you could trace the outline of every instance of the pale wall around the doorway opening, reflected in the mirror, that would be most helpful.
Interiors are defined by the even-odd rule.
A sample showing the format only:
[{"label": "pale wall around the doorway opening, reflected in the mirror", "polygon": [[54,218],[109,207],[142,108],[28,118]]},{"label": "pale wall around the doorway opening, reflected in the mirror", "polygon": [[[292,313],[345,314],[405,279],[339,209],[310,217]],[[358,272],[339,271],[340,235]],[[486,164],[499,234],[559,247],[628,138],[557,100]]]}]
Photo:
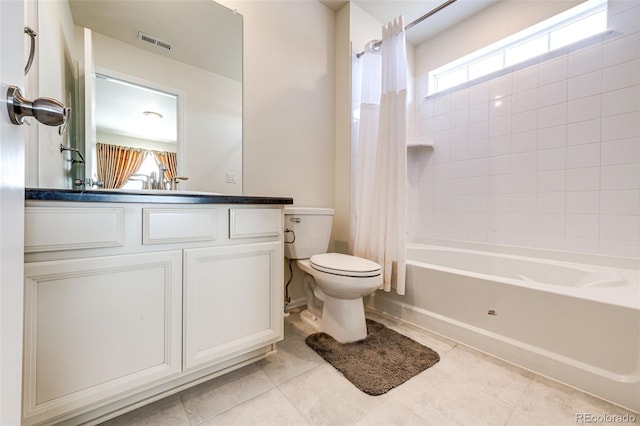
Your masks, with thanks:
[{"label": "pale wall around the doorway opening, reflected in the mirror", "polygon": [[[184,102],[178,174],[183,189],[242,194],[241,83],[93,33],[95,65],[176,91]],[[117,76],[117,75],[116,75]],[[236,172],[236,184],[225,172]]]}]

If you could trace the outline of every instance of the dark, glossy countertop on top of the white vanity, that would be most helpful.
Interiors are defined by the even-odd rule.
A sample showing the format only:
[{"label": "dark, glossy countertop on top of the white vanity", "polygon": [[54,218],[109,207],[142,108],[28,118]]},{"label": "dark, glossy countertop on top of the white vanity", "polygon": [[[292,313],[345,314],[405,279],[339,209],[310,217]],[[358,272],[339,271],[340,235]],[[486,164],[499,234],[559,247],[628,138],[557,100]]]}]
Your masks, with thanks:
[{"label": "dark, glossy countertop on top of the white vanity", "polygon": [[293,204],[288,197],[220,195],[199,191],[126,191],[26,188],[26,200],[80,201],[96,203],[162,203],[162,204]]}]

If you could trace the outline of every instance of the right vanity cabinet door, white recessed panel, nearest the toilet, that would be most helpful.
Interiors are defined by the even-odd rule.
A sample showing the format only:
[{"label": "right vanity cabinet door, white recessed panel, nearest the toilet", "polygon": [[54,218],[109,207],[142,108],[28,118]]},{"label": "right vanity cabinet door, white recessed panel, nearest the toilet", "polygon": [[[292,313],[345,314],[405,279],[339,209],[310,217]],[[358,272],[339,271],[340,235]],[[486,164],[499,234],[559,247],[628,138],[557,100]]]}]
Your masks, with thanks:
[{"label": "right vanity cabinet door, white recessed panel, nearest the toilet", "polygon": [[282,242],[184,251],[184,368],[283,337]]}]

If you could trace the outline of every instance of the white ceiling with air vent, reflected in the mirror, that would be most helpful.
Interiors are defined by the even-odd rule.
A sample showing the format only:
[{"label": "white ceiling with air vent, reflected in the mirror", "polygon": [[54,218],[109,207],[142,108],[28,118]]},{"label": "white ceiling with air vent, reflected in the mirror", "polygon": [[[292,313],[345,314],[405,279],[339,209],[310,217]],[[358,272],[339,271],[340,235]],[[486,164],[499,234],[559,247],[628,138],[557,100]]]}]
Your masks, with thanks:
[{"label": "white ceiling with air vent, reflected in the mirror", "polygon": [[[69,5],[76,25],[242,81],[242,16],[218,3],[69,0]],[[138,40],[138,32],[171,44],[171,50]]]}]

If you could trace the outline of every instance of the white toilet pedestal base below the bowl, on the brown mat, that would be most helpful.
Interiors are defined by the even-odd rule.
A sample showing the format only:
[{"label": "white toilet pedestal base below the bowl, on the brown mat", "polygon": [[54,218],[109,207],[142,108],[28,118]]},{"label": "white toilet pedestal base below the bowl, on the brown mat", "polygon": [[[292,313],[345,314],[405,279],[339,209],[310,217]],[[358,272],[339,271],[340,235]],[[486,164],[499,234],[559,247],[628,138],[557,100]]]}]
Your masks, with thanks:
[{"label": "white toilet pedestal base below the bowl, on the brown mat", "polygon": [[367,337],[362,297],[337,299],[327,295],[322,309],[321,330],[340,343],[351,343]]}]

